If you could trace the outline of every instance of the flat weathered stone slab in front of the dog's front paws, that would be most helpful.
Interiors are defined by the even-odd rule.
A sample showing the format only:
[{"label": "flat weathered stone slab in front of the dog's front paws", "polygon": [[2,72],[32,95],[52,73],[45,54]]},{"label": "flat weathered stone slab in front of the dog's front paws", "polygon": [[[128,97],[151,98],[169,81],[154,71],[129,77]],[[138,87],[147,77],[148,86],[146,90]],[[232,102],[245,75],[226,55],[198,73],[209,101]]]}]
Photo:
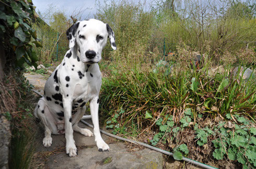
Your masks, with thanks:
[{"label": "flat weathered stone slab in front of the dog's front paws", "polygon": [[127,152],[122,142],[110,144],[110,151],[99,152],[97,147],[78,150],[69,158],[65,153],[52,155],[48,168],[162,168],[162,154],[144,149]]}]

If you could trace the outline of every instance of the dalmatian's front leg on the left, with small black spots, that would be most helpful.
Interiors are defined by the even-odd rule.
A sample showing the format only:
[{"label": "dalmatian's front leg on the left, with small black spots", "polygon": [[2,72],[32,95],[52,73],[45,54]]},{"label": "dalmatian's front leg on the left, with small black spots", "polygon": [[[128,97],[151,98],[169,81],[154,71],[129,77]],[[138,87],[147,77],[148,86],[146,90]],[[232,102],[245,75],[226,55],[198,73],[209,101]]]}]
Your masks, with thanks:
[{"label": "dalmatian's front leg on the left, with small black spots", "polygon": [[65,118],[65,138],[66,138],[66,154],[69,157],[75,157],[77,155],[77,149],[73,138],[72,128],[72,100],[63,98],[64,118]]}]

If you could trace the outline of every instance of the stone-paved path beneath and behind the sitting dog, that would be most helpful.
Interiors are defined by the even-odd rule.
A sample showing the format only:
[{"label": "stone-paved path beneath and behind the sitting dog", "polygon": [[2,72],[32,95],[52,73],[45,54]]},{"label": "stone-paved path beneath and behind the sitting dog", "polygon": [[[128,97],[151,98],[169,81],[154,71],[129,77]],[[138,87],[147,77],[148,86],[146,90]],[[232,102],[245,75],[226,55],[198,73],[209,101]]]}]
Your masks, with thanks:
[{"label": "stone-paved path beneath and behind the sitting dog", "polygon": [[[43,94],[45,77],[40,74],[25,74],[29,82]],[[87,120],[91,124],[90,120]],[[79,123],[80,127],[92,128]],[[78,155],[70,158],[65,153],[64,135],[52,135],[52,146],[42,145],[43,130],[38,129],[36,148],[38,161],[32,168],[162,168],[164,158],[161,153],[144,148],[131,151],[124,142],[103,135],[102,138],[110,147],[109,152],[99,152],[94,141],[95,137],[85,137],[74,132],[74,140]]]}]

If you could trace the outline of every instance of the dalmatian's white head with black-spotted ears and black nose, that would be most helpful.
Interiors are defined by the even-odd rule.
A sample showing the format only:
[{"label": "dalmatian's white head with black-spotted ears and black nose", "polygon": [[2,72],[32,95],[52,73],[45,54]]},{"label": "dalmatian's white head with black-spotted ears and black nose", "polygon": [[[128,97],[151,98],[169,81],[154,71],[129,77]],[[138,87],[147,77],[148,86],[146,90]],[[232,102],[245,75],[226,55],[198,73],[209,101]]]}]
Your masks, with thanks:
[{"label": "dalmatian's white head with black-spotted ears and black nose", "polygon": [[69,48],[77,44],[80,58],[84,63],[97,63],[101,59],[101,51],[109,37],[111,47],[115,50],[115,36],[108,24],[96,19],[78,21],[67,32]]}]

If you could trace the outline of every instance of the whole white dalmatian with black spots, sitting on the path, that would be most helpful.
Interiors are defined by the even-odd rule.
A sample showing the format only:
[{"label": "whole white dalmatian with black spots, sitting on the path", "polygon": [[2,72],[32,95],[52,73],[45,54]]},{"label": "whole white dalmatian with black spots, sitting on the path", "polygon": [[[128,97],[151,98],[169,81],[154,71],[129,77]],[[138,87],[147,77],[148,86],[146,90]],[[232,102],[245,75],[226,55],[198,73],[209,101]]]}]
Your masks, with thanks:
[{"label": "whole white dalmatian with black spots, sitting on the path", "polygon": [[[43,146],[51,146],[51,134],[65,133],[66,153],[69,157],[75,157],[77,148],[73,131],[76,131],[85,136],[95,136],[98,150],[109,151],[109,146],[103,141],[99,131],[101,72],[98,62],[108,37],[111,47],[117,49],[114,32],[108,24],[89,19],[74,23],[66,35],[70,49],[46,81],[44,95],[34,110],[34,116],[44,127]],[[94,134],[78,127],[88,101]]]}]

